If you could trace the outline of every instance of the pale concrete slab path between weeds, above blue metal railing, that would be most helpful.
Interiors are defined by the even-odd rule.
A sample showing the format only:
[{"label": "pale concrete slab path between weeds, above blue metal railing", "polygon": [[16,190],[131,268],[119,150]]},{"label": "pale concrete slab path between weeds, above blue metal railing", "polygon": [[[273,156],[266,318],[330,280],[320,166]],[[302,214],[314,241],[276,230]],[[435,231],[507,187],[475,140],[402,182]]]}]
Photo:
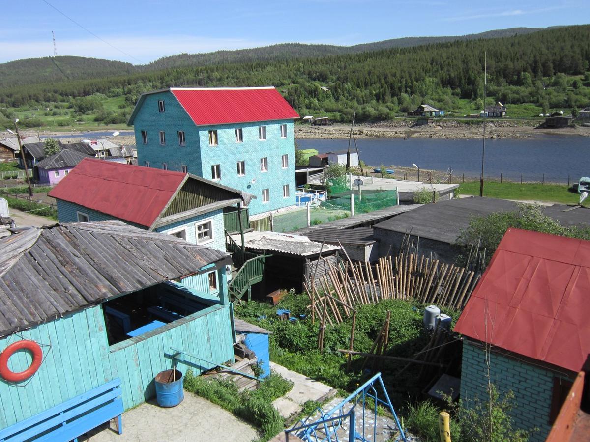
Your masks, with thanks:
[{"label": "pale concrete slab path between weeds, above blue metal railing", "polygon": [[302,374],[291,371],[282,365],[270,363],[271,370],[276,371],[283,378],[293,381],[293,388],[273,402],[278,413],[284,418],[299,413],[306,401],[324,401],[336,395],[337,391],[322,382],[308,378]]}]

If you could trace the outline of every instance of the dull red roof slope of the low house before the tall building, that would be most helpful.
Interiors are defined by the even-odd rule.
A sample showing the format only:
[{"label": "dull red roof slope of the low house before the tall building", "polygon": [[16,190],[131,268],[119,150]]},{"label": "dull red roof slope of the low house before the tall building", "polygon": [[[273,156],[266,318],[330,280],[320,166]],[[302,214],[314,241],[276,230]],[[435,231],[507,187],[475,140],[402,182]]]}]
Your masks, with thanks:
[{"label": "dull red roof slope of the low house before the tall building", "polygon": [[84,159],[49,196],[150,227],[186,173]]}]

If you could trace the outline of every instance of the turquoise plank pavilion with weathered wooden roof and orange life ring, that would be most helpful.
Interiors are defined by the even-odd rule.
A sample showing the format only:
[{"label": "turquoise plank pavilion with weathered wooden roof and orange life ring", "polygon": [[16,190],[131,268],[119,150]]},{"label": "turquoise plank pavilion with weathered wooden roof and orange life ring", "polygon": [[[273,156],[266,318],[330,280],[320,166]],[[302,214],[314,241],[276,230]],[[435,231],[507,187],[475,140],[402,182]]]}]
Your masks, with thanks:
[{"label": "turquoise plank pavilion with weathered wooden roof and orange life ring", "polygon": [[[9,357],[0,429],[111,381],[120,380],[123,408],[131,408],[155,395],[160,371],[200,374],[233,361],[229,262],[218,250],[118,221],[0,239],[0,353],[22,341],[40,351],[33,365],[27,351]],[[31,366],[25,379],[7,380]]]}]

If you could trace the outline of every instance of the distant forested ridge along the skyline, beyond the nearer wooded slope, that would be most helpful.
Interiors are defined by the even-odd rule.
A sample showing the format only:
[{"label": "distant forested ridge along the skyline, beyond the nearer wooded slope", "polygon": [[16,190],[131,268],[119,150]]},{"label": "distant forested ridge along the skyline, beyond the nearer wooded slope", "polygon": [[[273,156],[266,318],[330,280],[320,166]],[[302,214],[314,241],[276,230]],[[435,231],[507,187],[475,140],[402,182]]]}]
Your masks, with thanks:
[{"label": "distant forested ridge along the skyline, beyond the nearer wooded slope", "polygon": [[86,57],[43,57],[11,61],[0,64],[0,88],[21,86],[49,81],[68,81],[78,78],[101,78],[112,75],[149,72],[169,68],[205,66],[257,61],[285,60],[288,58],[325,57],[327,55],[355,54],[396,47],[411,47],[438,42],[464,39],[510,37],[529,34],[543,28],[511,28],[457,37],[408,37],[395,38],[353,46],[284,43],[267,47],[216,51],[204,54],[179,54],[163,57],[145,65],[132,65],[120,61]]}]

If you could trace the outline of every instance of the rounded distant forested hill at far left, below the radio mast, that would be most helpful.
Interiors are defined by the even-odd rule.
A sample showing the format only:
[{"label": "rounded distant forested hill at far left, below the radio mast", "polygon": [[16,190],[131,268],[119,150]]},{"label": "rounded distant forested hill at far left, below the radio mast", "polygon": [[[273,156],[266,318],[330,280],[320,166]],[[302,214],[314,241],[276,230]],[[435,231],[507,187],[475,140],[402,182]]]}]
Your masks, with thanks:
[{"label": "rounded distant forested hill at far left, below the radio mast", "polygon": [[43,57],[0,64],[0,88],[48,81],[131,74],[130,63],[87,57]]}]

